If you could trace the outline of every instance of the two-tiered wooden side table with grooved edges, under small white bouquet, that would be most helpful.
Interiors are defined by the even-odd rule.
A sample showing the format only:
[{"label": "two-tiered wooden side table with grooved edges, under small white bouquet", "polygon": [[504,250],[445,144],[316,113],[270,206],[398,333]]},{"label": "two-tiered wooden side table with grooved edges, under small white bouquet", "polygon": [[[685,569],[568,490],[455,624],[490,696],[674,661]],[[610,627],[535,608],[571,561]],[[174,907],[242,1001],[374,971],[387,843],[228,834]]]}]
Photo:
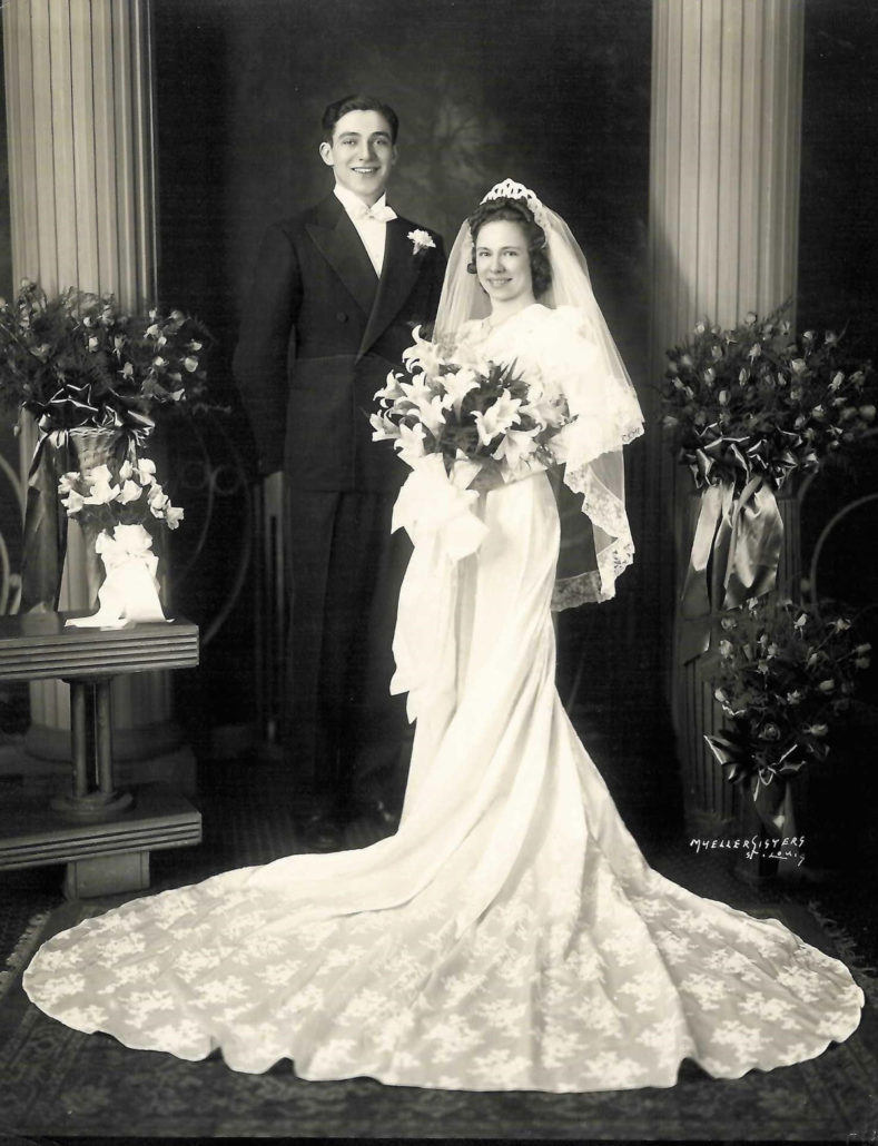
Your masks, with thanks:
[{"label": "two-tiered wooden side table with grooved edges, under small white bouquet", "polygon": [[0,680],[70,684],[71,787],[48,807],[32,796],[0,809],[0,871],[66,862],[68,897],[149,887],[150,850],[201,842],[201,813],[164,785],[118,792],[112,775],[110,681],[123,673],[191,668],[189,621],[65,627],[85,613],[0,617]]}]

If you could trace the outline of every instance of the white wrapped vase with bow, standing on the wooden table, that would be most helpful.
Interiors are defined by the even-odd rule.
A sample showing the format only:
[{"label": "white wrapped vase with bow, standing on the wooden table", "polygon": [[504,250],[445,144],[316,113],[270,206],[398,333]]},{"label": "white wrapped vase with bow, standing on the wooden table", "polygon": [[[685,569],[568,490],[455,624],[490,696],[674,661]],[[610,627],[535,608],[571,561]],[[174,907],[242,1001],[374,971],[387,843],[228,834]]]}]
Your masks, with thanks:
[{"label": "white wrapped vase with bow, standing on the wooden table", "polygon": [[95,554],[105,570],[97,612],[71,618],[78,628],[120,628],[127,622],[166,620],[159,599],[158,557],[142,525],[117,525],[97,535]]}]

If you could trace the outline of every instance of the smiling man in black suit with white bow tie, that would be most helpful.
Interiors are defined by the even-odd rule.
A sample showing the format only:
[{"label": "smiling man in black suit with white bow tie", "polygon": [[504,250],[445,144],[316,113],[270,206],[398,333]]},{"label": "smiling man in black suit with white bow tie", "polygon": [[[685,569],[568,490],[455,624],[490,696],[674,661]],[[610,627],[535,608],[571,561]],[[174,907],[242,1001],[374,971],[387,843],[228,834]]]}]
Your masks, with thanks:
[{"label": "smiling man in black suit with white bow tie", "polygon": [[403,698],[390,696],[410,552],[391,511],[407,470],[371,441],[368,414],[413,327],[436,314],[445,258],[439,235],[386,203],[398,126],[370,96],[327,108],[335,188],[266,231],[234,358],[260,470],[283,468],[284,744],[313,796],[306,840],[323,850],[352,823],[366,825],[358,845],[394,829],[410,748]]}]

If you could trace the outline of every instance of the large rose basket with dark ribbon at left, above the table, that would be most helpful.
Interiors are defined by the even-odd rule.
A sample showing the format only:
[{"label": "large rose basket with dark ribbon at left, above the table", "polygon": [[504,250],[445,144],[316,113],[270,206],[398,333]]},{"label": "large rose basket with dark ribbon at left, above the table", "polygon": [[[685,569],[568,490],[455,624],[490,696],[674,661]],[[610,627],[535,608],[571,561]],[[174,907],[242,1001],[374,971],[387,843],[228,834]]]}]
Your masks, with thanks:
[{"label": "large rose basket with dark ribbon at left, above the table", "polygon": [[136,463],[163,407],[212,406],[211,338],[196,319],[154,307],[126,313],[111,295],[48,297],[23,280],[0,300],[0,410],[30,414],[38,439],[28,478],[22,609],[57,607],[66,549],[63,474]]}]

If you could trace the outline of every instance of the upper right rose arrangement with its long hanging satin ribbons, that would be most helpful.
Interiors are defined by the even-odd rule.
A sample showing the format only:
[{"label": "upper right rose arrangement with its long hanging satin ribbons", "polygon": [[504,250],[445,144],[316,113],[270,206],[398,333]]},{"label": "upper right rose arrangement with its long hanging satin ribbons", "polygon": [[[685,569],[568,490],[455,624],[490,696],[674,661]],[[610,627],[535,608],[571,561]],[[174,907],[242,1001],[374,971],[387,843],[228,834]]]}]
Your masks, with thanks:
[{"label": "upper right rose arrangement with its long hanging satin ribbons", "polygon": [[701,494],[682,614],[703,623],[684,659],[708,647],[711,617],[774,588],[784,482],[875,423],[871,362],[854,359],[834,331],[793,336],[784,309],[747,314],[729,330],[705,320],[667,352],[664,425]]}]

